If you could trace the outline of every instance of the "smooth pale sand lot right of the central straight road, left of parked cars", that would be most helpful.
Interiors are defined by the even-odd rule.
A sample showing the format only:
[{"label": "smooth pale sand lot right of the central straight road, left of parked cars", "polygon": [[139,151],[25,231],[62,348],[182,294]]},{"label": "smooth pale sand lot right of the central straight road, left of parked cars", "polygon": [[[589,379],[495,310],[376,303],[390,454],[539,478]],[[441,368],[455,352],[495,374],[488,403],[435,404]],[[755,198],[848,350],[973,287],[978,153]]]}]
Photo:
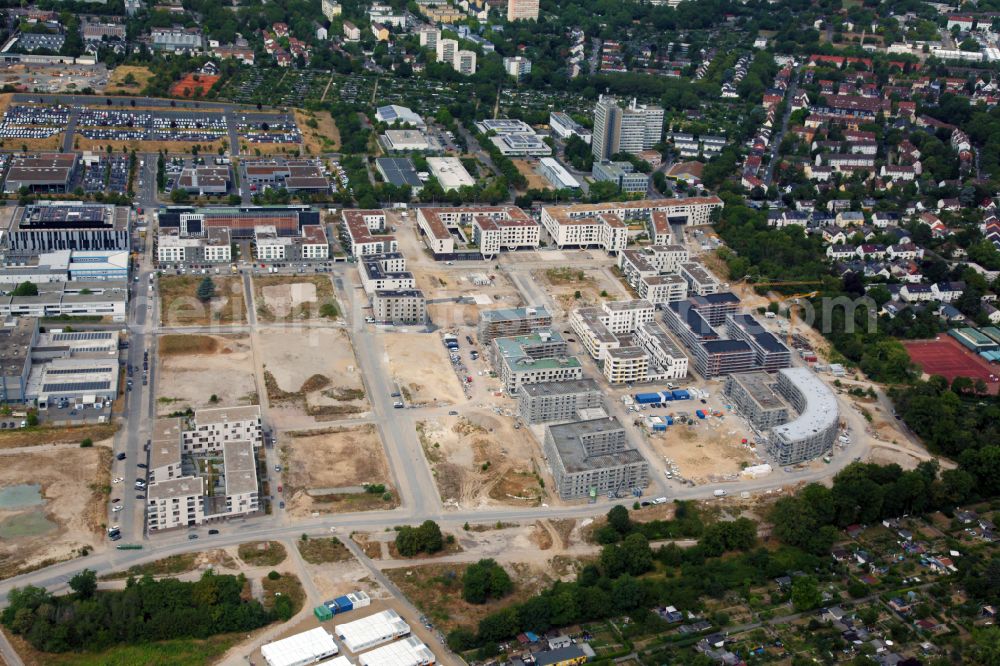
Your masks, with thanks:
[{"label": "smooth pale sand lot right of the central straight road, left of parked cars", "polygon": [[436,333],[386,333],[389,372],[410,404],[455,404],[464,400],[458,375]]}]

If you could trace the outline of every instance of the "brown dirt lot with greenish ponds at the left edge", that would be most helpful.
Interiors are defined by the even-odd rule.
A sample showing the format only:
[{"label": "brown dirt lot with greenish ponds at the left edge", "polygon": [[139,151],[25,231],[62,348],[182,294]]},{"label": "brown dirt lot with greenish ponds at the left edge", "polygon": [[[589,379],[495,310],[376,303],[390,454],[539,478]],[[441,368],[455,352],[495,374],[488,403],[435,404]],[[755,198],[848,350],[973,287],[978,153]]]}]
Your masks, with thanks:
[{"label": "brown dirt lot with greenish ponds at the left edge", "polygon": [[[0,503],[0,578],[100,545],[110,468],[106,446],[0,456],[0,498],[5,498]],[[9,501],[7,494],[16,492],[11,487],[25,483],[41,487],[41,504]]]}]

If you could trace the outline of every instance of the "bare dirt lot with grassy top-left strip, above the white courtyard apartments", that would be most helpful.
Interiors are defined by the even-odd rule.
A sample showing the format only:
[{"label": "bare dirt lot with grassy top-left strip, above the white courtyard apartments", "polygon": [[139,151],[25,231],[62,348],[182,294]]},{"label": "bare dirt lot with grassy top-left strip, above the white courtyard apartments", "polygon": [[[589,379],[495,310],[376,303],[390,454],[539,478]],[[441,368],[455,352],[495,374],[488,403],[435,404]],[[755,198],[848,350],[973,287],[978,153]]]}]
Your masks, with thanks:
[{"label": "bare dirt lot with grassy top-left strip, above the white courtyard apartments", "polygon": [[188,407],[257,404],[249,337],[165,335],[159,351],[159,414]]}]

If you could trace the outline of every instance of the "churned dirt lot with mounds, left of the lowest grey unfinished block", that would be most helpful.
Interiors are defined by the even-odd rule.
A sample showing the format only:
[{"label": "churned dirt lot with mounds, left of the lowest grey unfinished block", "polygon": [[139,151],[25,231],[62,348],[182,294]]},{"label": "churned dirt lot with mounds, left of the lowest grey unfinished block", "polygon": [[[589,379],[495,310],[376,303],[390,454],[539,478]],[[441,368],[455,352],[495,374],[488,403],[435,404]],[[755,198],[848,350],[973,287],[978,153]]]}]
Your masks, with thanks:
[{"label": "churned dirt lot with mounds, left of the lowest grey unfinished block", "polygon": [[485,410],[422,421],[417,433],[441,501],[448,506],[538,506],[550,501],[537,471],[545,470],[534,438],[510,419]]}]

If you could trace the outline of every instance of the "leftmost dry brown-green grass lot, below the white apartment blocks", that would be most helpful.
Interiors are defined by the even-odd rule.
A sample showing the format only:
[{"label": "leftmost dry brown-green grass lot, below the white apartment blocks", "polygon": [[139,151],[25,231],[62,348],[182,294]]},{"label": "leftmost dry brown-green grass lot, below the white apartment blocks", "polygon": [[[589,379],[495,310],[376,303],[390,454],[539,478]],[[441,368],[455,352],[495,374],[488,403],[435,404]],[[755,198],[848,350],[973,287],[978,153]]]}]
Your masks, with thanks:
[{"label": "leftmost dry brown-green grass lot, below the white apartment blocks", "polygon": [[204,277],[206,276],[165,275],[160,278],[160,317],[164,326],[246,322],[242,280],[232,276],[212,276],[216,296],[205,303],[195,295]]}]

